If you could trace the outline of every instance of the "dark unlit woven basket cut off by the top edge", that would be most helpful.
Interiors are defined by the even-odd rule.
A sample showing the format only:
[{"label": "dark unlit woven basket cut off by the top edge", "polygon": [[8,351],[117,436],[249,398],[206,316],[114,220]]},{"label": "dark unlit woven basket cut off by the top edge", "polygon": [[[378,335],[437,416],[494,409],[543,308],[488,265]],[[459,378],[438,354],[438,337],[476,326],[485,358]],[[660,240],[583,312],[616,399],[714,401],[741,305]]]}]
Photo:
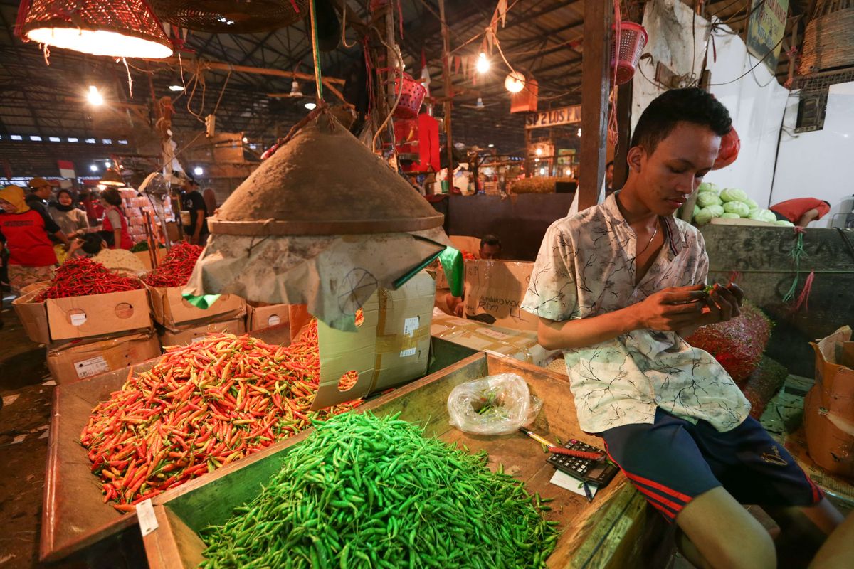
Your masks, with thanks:
[{"label": "dark unlit woven basket cut off by the top edge", "polygon": [[269,32],[308,15],[308,0],[150,0],[150,3],[161,20],[196,32]]}]

